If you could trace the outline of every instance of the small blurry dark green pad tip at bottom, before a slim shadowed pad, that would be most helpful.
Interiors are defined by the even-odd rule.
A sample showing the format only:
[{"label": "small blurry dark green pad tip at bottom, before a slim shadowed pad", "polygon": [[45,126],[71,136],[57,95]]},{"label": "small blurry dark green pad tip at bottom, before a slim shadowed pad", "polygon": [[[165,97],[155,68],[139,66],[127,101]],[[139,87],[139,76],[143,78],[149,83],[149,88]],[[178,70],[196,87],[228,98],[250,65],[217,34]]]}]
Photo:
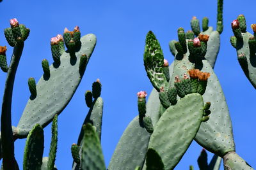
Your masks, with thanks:
[{"label": "small blurry dark green pad tip at bottom, before a slim shadowed pad", "polygon": [[81,169],[106,170],[102,148],[97,132],[92,124],[83,125],[84,138],[82,146]]}]

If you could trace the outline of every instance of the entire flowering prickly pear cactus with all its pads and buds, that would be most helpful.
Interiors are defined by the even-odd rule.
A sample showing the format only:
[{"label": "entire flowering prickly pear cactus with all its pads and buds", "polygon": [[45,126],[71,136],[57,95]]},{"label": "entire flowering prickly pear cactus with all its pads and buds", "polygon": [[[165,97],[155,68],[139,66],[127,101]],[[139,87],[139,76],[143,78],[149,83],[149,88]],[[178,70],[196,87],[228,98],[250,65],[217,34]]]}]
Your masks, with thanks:
[{"label": "entire flowering prickly pear cactus with all its pads and buds", "polygon": [[[193,17],[191,28],[177,29],[177,39],[170,41],[170,51],[175,59],[172,64],[164,59],[163,50],[156,35],[149,31],[146,36],[143,61],[147,76],[154,87],[148,100],[147,93],[140,91],[138,116],[120,138],[108,169],[174,169],[189,146],[195,140],[204,147],[198,157],[202,170],[253,169],[237,155],[230,113],[218,77],[213,71],[220,50],[220,34],[223,31],[223,0],[218,0],[217,27],[209,27],[209,19]],[[57,118],[76,91],[95,47],[93,34],[81,37],[78,26],[73,31],[64,30],[51,38],[54,62],[42,60],[43,75],[36,83],[29,78],[30,97],[17,127],[12,126],[12,92],[15,73],[19,64],[24,41],[29,29],[10,20],[10,28],[4,35],[13,55],[8,66],[6,46],[0,46],[0,67],[7,73],[1,113],[2,169],[19,169],[14,155],[14,141],[27,138],[23,169],[57,169],[55,165],[58,128]],[[254,34],[246,32],[244,15],[232,22],[234,36],[230,43],[237,50],[237,59],[244,74],[256,89]],[[67,50],[65,50],[65,46]],[[25,49],[25,48],[24,48]],[[253,58],[254,57],[254,58]],[[83,122],[77,144],[71,146],[72,169],[106,169],[102,147],[103,100],[102,84],[97,79],[92,91],[84,94],[89,111]],[[119,97],[119,96],[118,96]],[[49,157],[44,153],[44,127],[52,122],[52,139]],[[207,161],[207,151],[214,153]],[[189,166],[189,169],[194,169]]]}]

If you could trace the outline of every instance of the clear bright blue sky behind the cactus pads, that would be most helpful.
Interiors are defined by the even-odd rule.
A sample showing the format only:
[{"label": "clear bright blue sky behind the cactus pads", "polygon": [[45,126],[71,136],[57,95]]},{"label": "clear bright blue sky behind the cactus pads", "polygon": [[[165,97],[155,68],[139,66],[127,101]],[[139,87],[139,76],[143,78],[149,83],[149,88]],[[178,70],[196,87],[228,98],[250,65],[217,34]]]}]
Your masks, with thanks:
[{"label": "clear bright blue sky behind the cactus pads", "polygon": [[[255,96],[256,91],[243,74],[236,59],[236,50],[230,45],[230,23],[244,14],[248,30],[256,23],[256,2],[224,0],[224,31],[215,72],[225,93],[232,118],[236,151],[253,167],[256,167]],[[12,122],[17,125],[29,98],[28,78],[36,81],[42,76],[42,59],[52,62],[50,39],[62,34],[65,27],[72,30],[79,25],[81,34],[93,33],[97,45],[76,94],[58,119],[58,169],[71,169],[70,146],[76,143],[81,124],[88,112],[84,92],[91,90],[97,78],[102,82],[104,117],[102,148],[108,165],[118,139],[125,127],[137,114],[136,92],[152,90],[143,66],[145,36],[153,31],[163,48],[164,57],[172,62],[168,42],[177,39],[177,28],[190,29],[193,16],[202,20],[209,17],[209,25],[216,29],[216,0],[205,1],[13,1],[0,3],[0,45],[7,45],[3,29],[9,20],[17,18],[20,24],[31,29],[17,71],[13,89]],[[7,45],[8,46],[8,45]],[[12,48],[8,46],[8,63]],[[0,71],[0,96],[3,96],[6,73]],[[254,98],[253,98],[254,97]],[[1,97],[0,97],[1,101]],[[45,151],[48,155],[51,142],[51,126],[45,128]],[[25,139],[15,142],[15,157],[22,169]],[[196,159],[201,146],[193,143],[175,169],[198,169]],[[211,154],[209,154],[211,155]],[[223,166],[221,165],[221,169]]]}]

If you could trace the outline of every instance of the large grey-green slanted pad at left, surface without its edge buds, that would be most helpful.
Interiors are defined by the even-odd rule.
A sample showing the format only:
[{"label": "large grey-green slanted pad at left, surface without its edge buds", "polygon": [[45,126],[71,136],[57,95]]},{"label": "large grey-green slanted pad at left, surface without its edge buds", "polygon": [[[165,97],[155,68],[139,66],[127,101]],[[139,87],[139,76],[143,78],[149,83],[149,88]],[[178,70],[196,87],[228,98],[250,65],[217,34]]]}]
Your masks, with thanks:
[{"label": "large grey-green slanted pad at left, surface without its edge buds", "polygon": [[81,55],[87,57],[92,55],[96,44],[93,34],[81,38],[81,50],[70,59],[70,54],[64,52],[61,55],[61,62],[58,68],[50,66],[51,76],[49,79],[42,76],[36,85],[37,96],[29,99],[26,108],[17,126],[20,138],[24,138],[35,124],[45,127],[56,114],[67,106],[74,95],[83,73],[79,72],[79,59]]}]

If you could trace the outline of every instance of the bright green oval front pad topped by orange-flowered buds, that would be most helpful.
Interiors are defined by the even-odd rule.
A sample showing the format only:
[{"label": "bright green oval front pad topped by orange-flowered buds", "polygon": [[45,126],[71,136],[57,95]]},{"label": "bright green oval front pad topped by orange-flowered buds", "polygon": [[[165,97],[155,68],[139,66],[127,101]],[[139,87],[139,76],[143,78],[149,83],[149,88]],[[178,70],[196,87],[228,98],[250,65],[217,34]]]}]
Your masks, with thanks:
[{"label": "bright green oval front pad topped by orange-flowered buds", "polygon": [[159,153],[164,169],[173,169],[195,138],[202,121],[203,107],[200,94],[188,94],[164,111],[157,122],[148,148]]}]

